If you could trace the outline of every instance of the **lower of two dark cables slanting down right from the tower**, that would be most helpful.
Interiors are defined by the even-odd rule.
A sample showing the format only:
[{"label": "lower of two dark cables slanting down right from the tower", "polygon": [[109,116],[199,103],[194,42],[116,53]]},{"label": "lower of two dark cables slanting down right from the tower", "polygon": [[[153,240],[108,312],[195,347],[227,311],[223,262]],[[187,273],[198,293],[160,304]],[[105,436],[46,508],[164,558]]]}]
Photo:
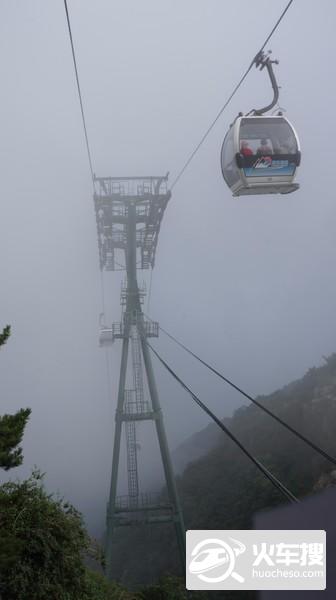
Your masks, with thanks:
[{"label": "lower of two dark cables slanting down right from the tower", "polygon": [[238,438],[231,433],[231,431],[222,423],[222,421],[200,400],[196,394],[182,381],[182,379],[171,369],[166,361],[154,350],[149,342],[146,340],[147,346],[151,349],[153,354],[158,358],[160,363],[167,369],[167,371],[174,377],[174,379],[191,395],[192,399],[200,406],[200,408],[226,433],[226,435],[241,449],[241,451],[253,462],[253,464],[263,473],[263,475],[277,488],[283,496],[290,500],[290,502],[299,502],[298,498],[292,494],[292,492],[283,484],[275,475],[273,475],[267,467],[265,467],[259,460],[257,460],[249,450],[238,440]]}]

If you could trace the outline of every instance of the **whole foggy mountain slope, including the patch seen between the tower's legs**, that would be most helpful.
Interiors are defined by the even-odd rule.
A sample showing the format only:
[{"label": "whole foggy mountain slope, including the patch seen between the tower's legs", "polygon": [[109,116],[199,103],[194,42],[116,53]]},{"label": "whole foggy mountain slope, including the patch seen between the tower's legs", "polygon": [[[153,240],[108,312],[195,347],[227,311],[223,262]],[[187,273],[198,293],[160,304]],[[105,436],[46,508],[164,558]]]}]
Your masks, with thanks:
[{"label": "whole foggy mountain slope, including the patch seen between the tower's legs", "polygon": [[[302,379],[258,400],[336,455],[336,354],[326,359],[324,366],[310,369]],[[232,418],[225,419],[225,425],[297,497],[334,484],[333,463],[254,405],[237,410]],[[208,452],[195,457],[195,448],[199,451],[202,444],[204,448],[212,443]],[[184,460],[188,448],[192,450],[192,462],[177,481],[187,529],[249,529],[257,511],[286,502],[218,426],[211,424],[187,441]],[[179,572],[171,525],[139,526],[127,534],[124,531],[117,557],[125,583],[130,579],[155,581],[158,574]],[[244,592],[235,594],[237,599],[249,597]],[[221,599],[231,597],[230,593],[221,595]]]}]

